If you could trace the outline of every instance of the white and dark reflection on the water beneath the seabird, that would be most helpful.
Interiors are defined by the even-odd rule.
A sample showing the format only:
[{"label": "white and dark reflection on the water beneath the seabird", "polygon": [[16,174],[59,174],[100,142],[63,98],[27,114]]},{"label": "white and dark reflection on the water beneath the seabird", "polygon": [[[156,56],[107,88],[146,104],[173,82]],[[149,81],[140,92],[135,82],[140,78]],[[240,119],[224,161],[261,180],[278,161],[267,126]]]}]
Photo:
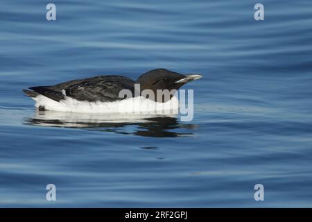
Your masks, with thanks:
[{"label": "white and dark reflection on the water beneath the seabird", "polygon": [[142,137],[191,136],[193,130],[198,128],[196,124],[178,121],[174,115],[87,114],[38,110],[34,118],[28,118],[24,123],[33,126],[85,128]]}]

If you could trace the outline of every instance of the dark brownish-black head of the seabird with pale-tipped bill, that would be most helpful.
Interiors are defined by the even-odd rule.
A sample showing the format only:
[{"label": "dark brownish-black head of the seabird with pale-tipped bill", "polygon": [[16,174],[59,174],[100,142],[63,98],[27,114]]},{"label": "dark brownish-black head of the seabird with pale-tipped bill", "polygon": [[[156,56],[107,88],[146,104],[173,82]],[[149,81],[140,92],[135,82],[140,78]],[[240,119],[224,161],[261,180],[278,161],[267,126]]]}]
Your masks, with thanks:
[{"label": "dark brownish-black head of the seabird with pale-tipped bill", "polygon": [[[177,72],[166,69],[154,69],[141,75],[137,78],[135,83],[140,84],[141,96],[146,96],[143,91],[150,89],[153,91],[155,98],[151,98],[150,95],[146,96],[146,98],[164,103],[171,99],[174,92],[182,87],[182,85],[198,78],[202,78],[202,76],[199,74],[178,74]],[[162,96],[157,96],[157,89],[162,90]],[[168,91],[166,89],[168,89]],[[168,96],[166,92],[169,92]]]}]

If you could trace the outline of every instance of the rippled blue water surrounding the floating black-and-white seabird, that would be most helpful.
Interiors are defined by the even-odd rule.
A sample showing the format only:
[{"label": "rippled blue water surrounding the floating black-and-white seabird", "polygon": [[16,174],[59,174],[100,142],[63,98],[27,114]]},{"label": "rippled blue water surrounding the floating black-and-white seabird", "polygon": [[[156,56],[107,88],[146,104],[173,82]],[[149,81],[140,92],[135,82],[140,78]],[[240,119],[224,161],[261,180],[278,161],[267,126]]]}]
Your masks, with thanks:
[{"label": "rippled blue water surrounding the floating black-and-white seabird", "polygon": [[[1,1],[0,207],[312,207],[312,4]],[[194,119],[36,112],[21,89],[200,73]],[[45,187],[57,187],[46,201]],[[265,200],[254,200],[263,184]]]}]

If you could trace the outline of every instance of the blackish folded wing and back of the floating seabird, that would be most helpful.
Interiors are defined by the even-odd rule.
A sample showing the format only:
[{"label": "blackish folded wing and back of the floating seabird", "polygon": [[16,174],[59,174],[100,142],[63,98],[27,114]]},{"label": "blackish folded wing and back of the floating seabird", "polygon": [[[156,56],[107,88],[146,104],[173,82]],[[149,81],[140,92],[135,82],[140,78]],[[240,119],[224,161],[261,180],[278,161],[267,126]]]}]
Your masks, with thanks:
[{"label": "blackish folded wing and back of the floating seabird", "polygon": [[65,99],[65,95],[78,101],[110,102],[119,98],[121,89],[134,92],[135,82],[124,76],[96,76],[82,80],[71,80],[55,86],[31,87],[35,92],[55,101]]}]

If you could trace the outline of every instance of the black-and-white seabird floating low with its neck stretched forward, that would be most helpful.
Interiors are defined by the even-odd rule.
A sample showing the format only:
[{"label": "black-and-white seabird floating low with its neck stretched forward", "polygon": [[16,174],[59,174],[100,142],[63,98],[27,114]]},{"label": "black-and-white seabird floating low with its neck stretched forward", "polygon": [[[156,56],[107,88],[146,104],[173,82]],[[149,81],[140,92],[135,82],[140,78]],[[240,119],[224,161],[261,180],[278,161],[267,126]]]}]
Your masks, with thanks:
[{"label": "black-and-white seabird floating low with its neck stretched forward", "polygon": [[[202,75],[153,69],[139,76],[137,80],[116,75],[94,76],[69,80],[57,85],[29,87],[23,89],[23,92],[36,101],[35,106],[38,110],[101,112],[99,109],[103,110],[104,107],[106,111],[114,111],[116,103],[119,102],[120,105],[122,101],[128,101],[123,102],[123,107],[127,107],[130,104],[127,99],[138,97],[145,99],[148,104],[168,103],[174,96],[172,92],[199,78],[202,78]],[[121,96],[120,92],[123,89],[130,92],[130,96]],[[157,94],[159,90],[169,92],[170,95]],[[146,91],[148,93],[145,93]],[[96,105],[98,108],[95,108]]]}]

